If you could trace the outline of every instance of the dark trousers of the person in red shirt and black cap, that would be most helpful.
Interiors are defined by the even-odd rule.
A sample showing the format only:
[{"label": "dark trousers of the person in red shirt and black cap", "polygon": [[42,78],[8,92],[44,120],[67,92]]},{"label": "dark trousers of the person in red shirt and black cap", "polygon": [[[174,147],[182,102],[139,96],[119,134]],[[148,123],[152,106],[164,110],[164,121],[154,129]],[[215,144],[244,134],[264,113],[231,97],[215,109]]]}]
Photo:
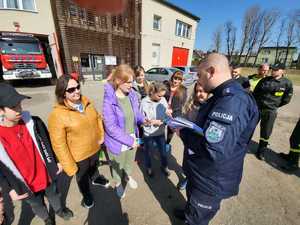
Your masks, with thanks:
[{"label": "dark trousers of the person in red shirt and black cap", "polygon": [[53,182],[44,191],[34,193],[25,201],[31,206],[32,211],[35,215],[40,217],[42,220],[49,218],[49,212],[45,205],[44,196],[47,197],[50,205],[57,213],[62,209],[62,200],[60,194],[57,192],[56,184]]}]

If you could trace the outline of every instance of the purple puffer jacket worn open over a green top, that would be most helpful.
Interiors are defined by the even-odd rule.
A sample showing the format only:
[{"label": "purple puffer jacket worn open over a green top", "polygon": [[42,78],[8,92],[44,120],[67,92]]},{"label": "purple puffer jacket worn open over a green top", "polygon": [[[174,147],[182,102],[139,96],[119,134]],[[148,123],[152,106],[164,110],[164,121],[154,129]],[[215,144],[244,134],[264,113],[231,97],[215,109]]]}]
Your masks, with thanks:
[{"label": "purple puffer jacket worn open over a green top", "polygon": [[[128,96],[133,108],[135,133],[138,137],[137,125],[142,124],[145,118],[139,109],[138,96],[135,91],[131,90]],[[105,127],[104,144],[111,153],[119,155],[122,145],[132,146],[134,138],[125,131],[124,113],[118,103],[115,90],[110,83],[104,85],[102,114]]]}]

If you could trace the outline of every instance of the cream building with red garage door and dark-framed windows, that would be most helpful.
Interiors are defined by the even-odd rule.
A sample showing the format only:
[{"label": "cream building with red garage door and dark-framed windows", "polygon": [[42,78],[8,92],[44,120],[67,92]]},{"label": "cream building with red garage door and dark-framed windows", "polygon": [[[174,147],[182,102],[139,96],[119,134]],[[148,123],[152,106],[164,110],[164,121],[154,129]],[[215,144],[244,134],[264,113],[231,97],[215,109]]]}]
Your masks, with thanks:
[{"label": "cream building with red garage door and dark-framed windows", "polygon": [[191,65],[200,18],[162,0],[142,0],[141,14],[141,65]]}]

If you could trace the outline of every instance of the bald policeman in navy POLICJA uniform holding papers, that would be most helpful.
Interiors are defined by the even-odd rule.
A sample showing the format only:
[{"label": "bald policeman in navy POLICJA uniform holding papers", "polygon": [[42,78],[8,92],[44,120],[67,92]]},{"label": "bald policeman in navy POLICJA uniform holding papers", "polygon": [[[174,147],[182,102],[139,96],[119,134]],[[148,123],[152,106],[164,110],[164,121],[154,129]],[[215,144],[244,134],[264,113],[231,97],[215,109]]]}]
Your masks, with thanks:
[{"label": "bald policeman in navy POLICJA uniform holding papers", "polygon": [[[204,135],[180,130],[188,179],[184,219],[189,225],[207,225],[222,199],[238,194],[247,146],[259,120],[255,99],[231,79],[225,56],[209,54],[198,67],[198,77],[199,84],[213,96],[196,119]],[[175,216],[180,215],[175,210]]]}]

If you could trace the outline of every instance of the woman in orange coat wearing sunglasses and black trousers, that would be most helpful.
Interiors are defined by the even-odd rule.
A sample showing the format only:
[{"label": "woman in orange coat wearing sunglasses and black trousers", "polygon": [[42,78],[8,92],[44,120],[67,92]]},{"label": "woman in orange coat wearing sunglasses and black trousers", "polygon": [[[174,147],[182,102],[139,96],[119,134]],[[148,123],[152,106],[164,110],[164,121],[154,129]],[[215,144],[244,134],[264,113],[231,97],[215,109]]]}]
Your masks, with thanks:
[{"label": "woman in orange coat wearing sunglasses and black trousers", "polygon": [[80,84],[69,75],[57,80],[57,104],[49,116],[48,126],[56,157],[68,176],[76,174],[83,195],[82,206],[94,206],[90,191],[93,185],[109,187],[99,175],[98,151],[104,140],[102,117],[88,98],[81,95]]}]

